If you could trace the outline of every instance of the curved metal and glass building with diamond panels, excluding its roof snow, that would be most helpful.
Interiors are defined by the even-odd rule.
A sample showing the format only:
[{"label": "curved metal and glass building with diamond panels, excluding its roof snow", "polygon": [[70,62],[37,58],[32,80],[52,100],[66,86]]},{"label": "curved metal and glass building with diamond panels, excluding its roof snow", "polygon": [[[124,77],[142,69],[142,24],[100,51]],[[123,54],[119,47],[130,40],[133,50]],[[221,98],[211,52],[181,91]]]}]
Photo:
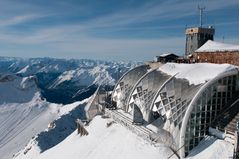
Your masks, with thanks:
[{"label": "curved metal and glass building with diamond panels, excluding its roof snow", "polygon": [[132,115],[132,108],[137,106],[145,125],[159,119],[163,121],[158,125],[156,122],[155,126],[172,135],[172,147],[185,157],[208,134],[211,123],[239,91],[238,81],[237,68],[194,85],[157,68],[141,65],[120,78],[112,100],[119,109]]}]

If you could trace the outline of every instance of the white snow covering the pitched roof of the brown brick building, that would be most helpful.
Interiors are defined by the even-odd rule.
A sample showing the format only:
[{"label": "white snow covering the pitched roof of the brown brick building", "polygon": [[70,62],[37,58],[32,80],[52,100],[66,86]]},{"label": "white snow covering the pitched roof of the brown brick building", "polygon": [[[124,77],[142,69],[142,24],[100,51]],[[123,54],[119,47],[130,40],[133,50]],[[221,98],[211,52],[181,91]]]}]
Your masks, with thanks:
[{"label": "white snow covering the pitched roof of the brown brick building", "polygon": [[239,51],[239,45],[225,44],[208,40],[196,52],[223,52],[223,51]]}]

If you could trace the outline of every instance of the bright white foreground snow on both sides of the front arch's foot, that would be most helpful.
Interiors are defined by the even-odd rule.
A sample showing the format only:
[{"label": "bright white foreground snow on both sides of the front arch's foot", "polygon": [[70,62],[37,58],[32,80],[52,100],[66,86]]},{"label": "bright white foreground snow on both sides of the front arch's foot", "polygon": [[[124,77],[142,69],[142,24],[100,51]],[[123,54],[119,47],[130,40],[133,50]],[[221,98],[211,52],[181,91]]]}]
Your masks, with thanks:
[{"label": "bright white foreground snow on both sides of the front arch's foot", "polygon": [[[63,121],[61,124],[68,123]],[[88,136],[77,135],[74,131],[58,145],[43,153],[38,141],[33,138],[15,159],[167,159],[169,156],[171,159],[177,158],[168,147],[152,145],[117,123],[108,127],[107,123],[111,122],[112,119],[97,116],[89,126],[85,126],[89,132]],[[187,159],[225,159],[231,158],[232,154],[233,145],[209,136],[190,152]]]}]

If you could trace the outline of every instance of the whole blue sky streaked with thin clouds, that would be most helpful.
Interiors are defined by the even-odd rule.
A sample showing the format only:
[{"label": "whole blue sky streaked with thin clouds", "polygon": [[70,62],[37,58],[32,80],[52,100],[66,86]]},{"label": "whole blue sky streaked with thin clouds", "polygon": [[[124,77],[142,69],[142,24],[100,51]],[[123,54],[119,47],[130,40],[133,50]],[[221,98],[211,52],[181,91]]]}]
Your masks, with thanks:
[{"label": "whole blue sky streaked with thin clouds", "polygon": [[0,56],[151,60],[184,53],[185,27],[239,44],[239,0],[0,0]]}]

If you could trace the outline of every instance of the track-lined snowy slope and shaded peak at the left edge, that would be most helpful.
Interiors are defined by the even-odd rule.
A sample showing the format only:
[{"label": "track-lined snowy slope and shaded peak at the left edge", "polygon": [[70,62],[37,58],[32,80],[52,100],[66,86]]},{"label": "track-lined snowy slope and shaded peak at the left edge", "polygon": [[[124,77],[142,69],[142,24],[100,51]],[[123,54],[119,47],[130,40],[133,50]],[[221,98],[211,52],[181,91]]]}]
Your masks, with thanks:
[{"label": "track-lined snowy slope and shaded peak at the left edge", "polygon": [[[83,101],[85,103],[86,101]],[[42,99],[33,76],[0,76],[0,158],[10,159],[32,136],[45,130],[50,122],[74,109]]]}]

